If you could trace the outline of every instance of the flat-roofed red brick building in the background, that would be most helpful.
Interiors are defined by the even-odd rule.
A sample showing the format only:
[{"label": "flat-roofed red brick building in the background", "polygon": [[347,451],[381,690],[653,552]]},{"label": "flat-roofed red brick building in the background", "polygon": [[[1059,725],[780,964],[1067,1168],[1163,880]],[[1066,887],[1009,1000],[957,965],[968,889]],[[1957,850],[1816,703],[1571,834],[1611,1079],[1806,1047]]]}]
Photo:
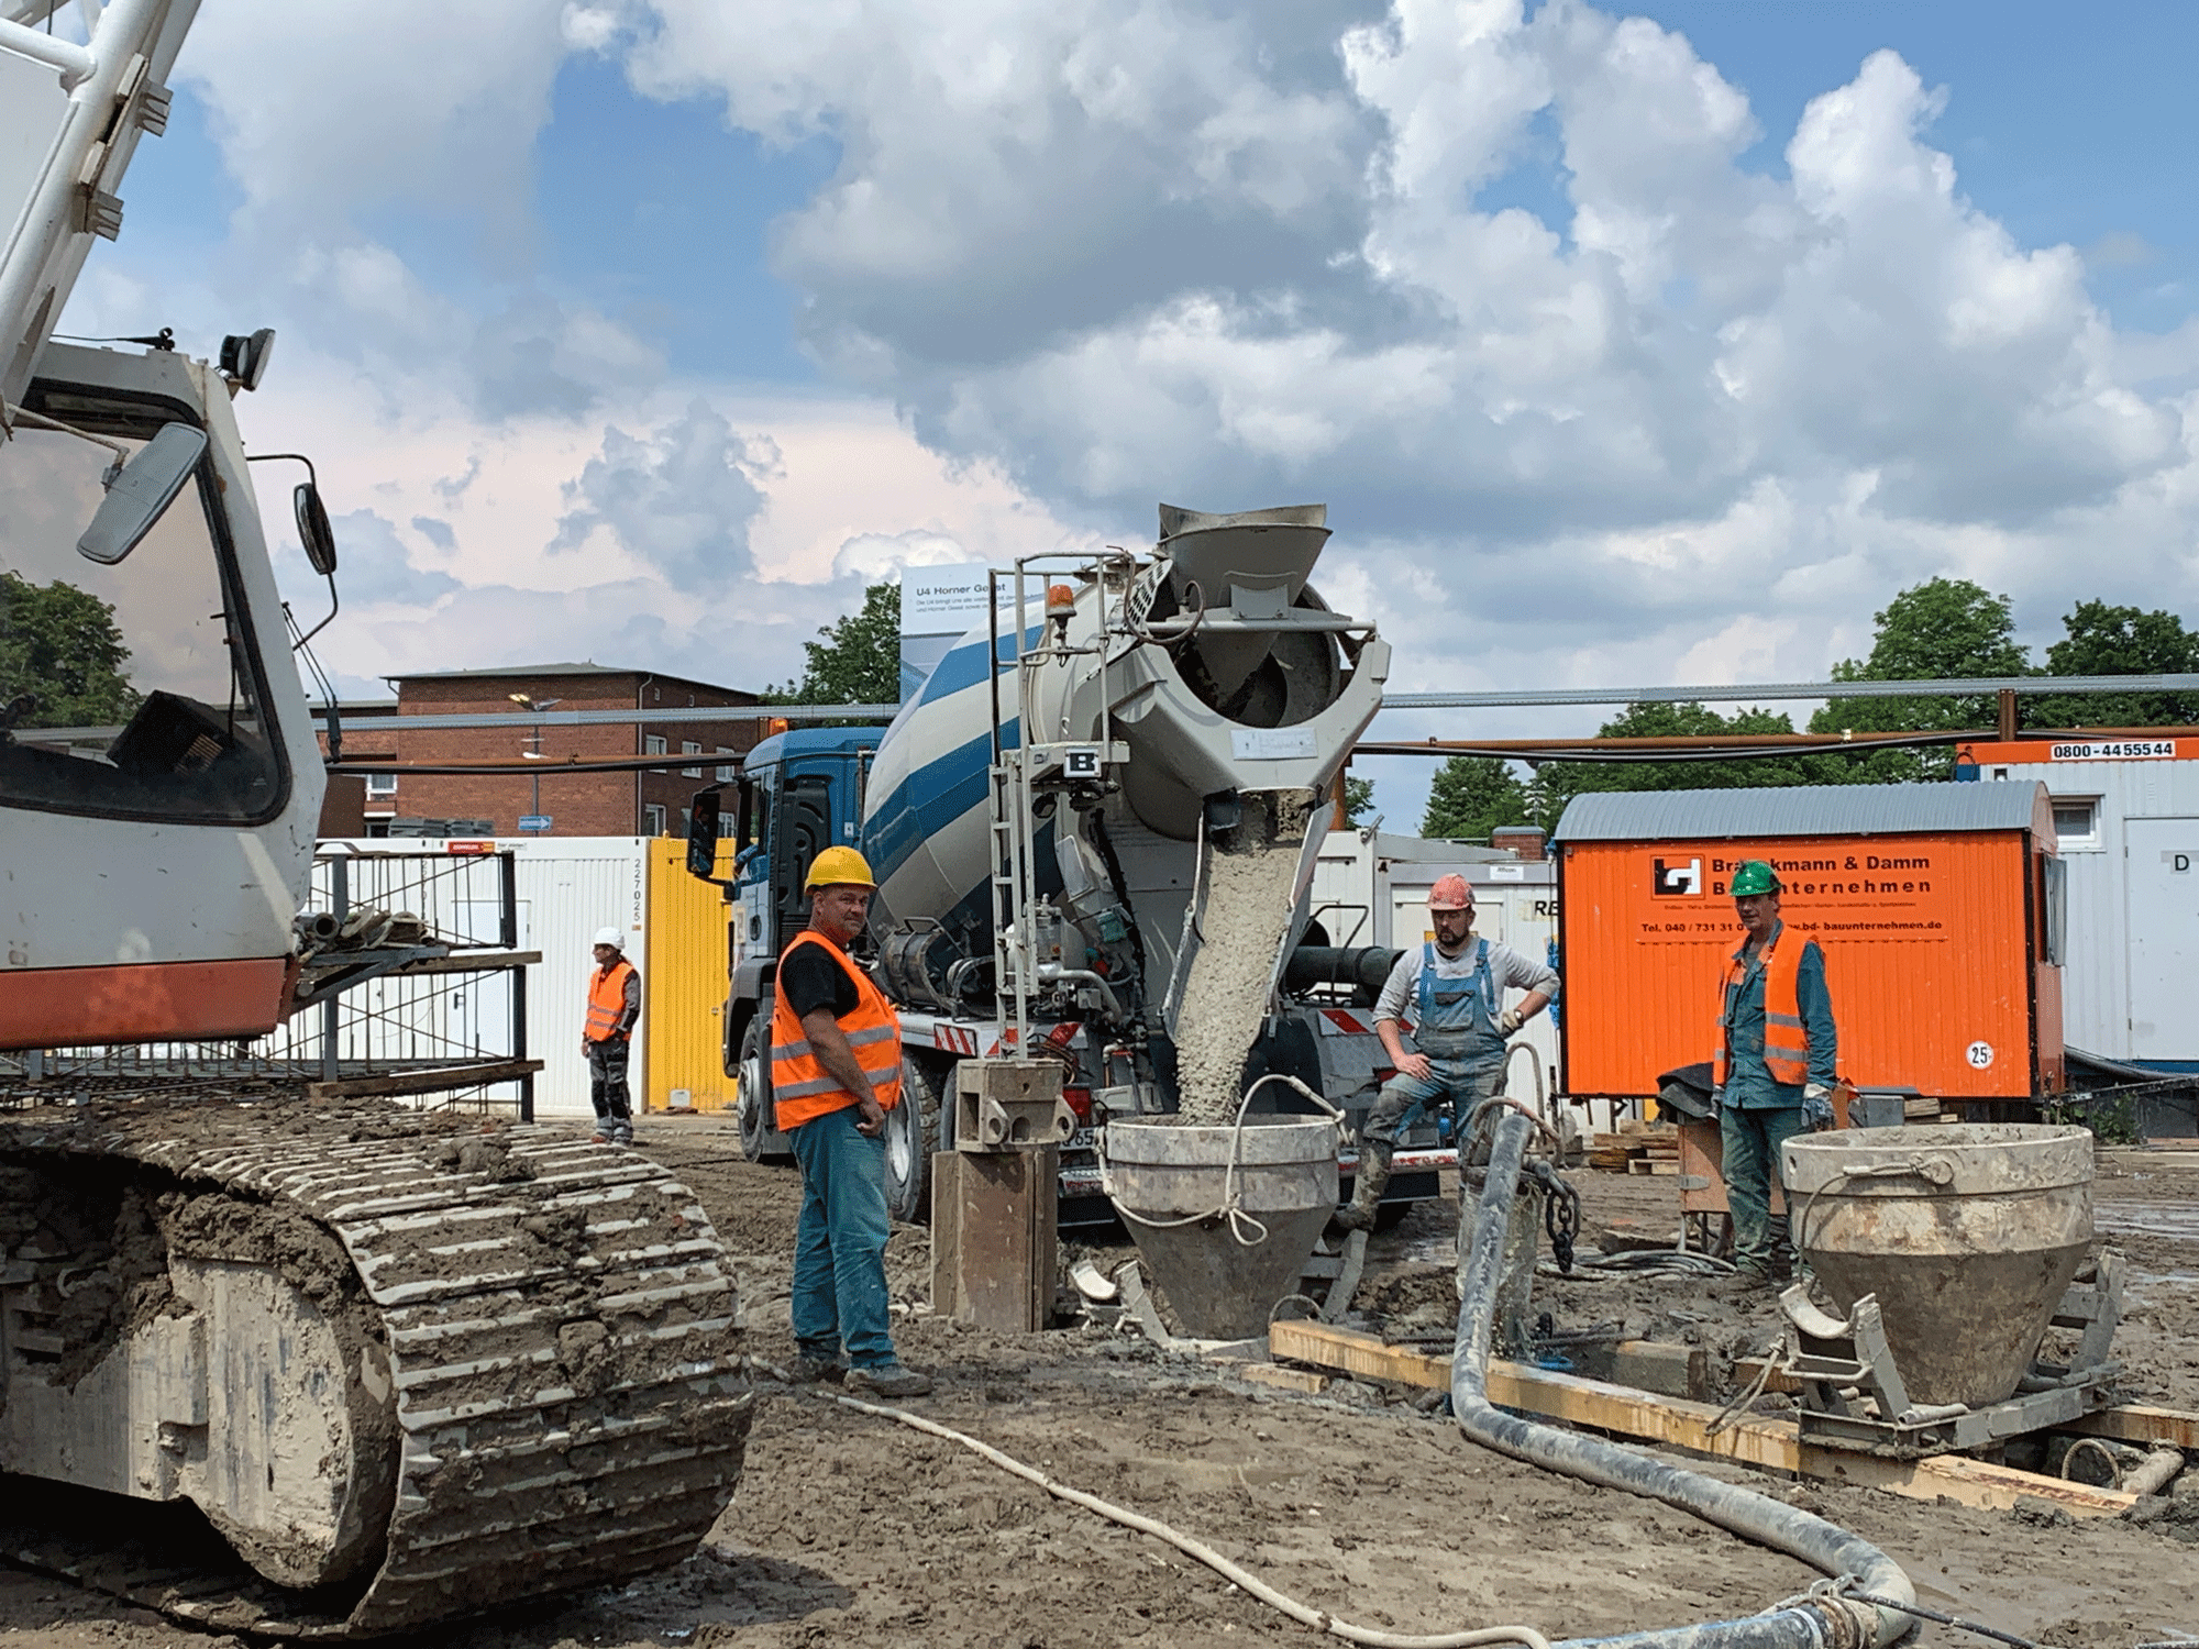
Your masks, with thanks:
[{"label": "flat-roofed red brick building in the background", "polygon": [[[396,717],[345,719],[345,754],[398,763],[528,761],[541,752],[543,774],[398,774],[365,781],[367,835],[387,835],[398,820],[482,820],[495,835],[519,835],[523,814],[548,814],[545,835],[684,835],[688,798],[712,778],[732,778],[730,759],[763,737],[754,721],[647,721],[559,726],[539,734],[510,728],[405,730],[418,715],[519,715],[523,695],[550,715],[567,710],[745,708],[754,693],[690,682],[684,675],[622,671],[609,664],[530,664],[501,671],[394,675]],[[552,699],[556,704],[552,704]],[[356,732],[354,732],[356,728]],[[690,754],[688,767],[660,772],[561,774],[570,759]],[[400,822],[398,829],[405,829]]]}]

